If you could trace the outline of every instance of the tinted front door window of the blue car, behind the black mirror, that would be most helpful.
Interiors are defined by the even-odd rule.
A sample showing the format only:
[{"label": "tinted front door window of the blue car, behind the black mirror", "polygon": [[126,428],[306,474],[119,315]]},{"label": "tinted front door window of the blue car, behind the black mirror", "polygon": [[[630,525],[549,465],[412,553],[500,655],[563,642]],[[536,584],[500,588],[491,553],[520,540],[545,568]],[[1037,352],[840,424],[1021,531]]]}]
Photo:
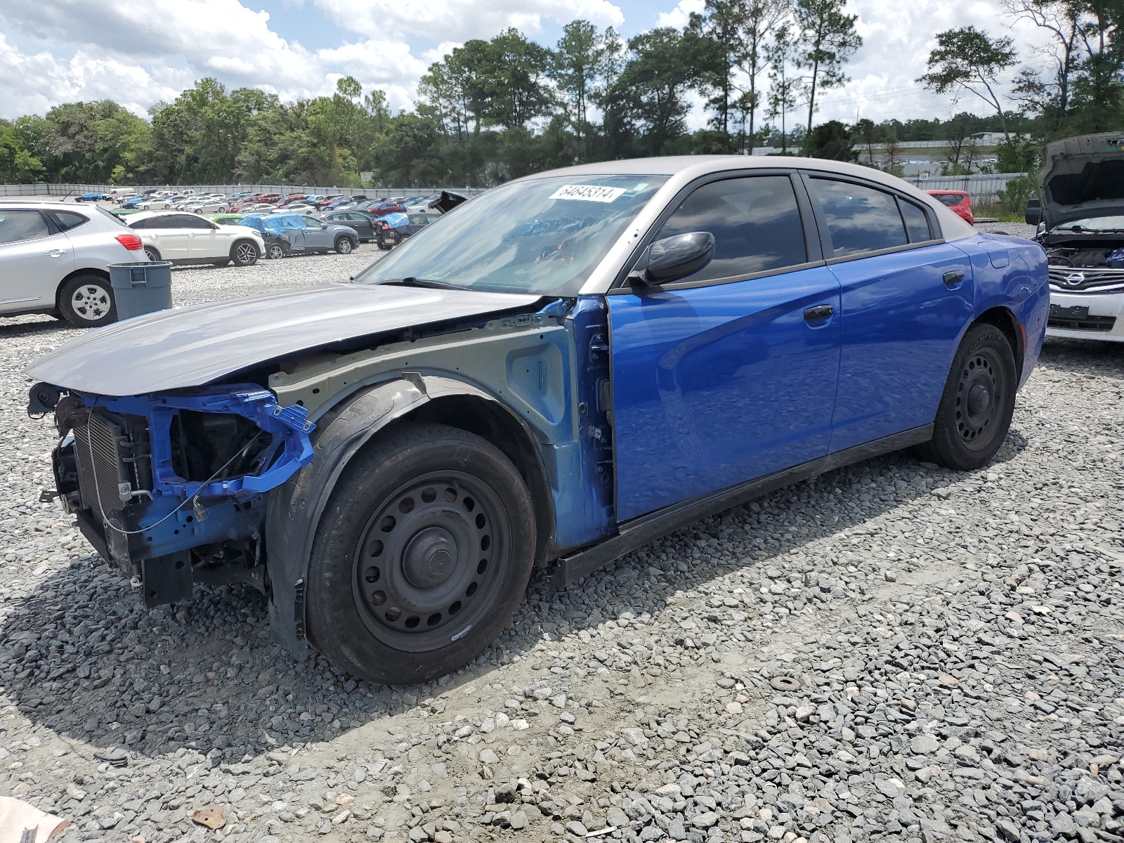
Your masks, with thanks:
[{"label": "tinted front door window of the blue car, behind the black mirror", "polygon": [[689,281],[747,275],[808,260],[804,226],[787,175],[710,182],[688,196],[656,239],[687,232],[714,235],[714,260]]}]

